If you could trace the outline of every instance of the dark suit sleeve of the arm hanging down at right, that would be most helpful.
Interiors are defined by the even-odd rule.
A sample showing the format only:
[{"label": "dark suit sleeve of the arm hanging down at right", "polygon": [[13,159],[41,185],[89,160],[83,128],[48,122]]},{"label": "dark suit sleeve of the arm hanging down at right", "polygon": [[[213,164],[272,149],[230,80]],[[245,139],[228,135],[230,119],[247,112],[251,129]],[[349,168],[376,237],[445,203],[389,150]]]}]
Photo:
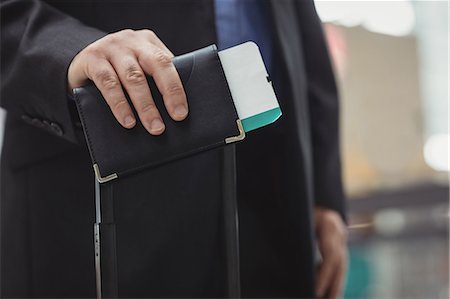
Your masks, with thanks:
[{"label": "dark suit sleeve of the arm hanging down at right", "polygon": [[336,82],[313,1],[300,0],[297,5],[307,72],[315,204],[336,210],[346,219]]}]

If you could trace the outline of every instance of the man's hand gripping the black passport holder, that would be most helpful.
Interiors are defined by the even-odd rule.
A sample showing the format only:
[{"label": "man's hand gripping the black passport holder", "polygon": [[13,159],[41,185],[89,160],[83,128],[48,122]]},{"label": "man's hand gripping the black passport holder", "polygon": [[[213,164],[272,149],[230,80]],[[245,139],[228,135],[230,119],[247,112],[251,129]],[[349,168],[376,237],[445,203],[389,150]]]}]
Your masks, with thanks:
[{"label": "man's hand gripping the black passport holder", "polygon": [[67,74],[68,87],[72,90],[88,79],[94,81],[117,121],[130,129],[136,124],[136,118],[123,87],[147,131],[160,135],[165,125],[145,74],[155,80],[173,120],[181,121],[188,114],[186,94],[172,57],[173,54],[150,30],[126,29],[108,34],[74,57]]}]

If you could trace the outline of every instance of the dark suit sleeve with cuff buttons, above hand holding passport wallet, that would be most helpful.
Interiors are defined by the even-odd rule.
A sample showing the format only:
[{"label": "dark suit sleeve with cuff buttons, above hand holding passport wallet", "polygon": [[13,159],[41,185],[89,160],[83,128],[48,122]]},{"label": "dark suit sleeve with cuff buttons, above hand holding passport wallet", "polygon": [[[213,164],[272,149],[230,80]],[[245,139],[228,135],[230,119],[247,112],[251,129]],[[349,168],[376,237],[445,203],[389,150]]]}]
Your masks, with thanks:
[{"label": "dark suit sleeve with cuff buttons, above hand holding passport wallet", "polygon": [[2,1],[1,107],[58,124],[76,142],[67,98],[72,58],[105,33],[37,0]]}]

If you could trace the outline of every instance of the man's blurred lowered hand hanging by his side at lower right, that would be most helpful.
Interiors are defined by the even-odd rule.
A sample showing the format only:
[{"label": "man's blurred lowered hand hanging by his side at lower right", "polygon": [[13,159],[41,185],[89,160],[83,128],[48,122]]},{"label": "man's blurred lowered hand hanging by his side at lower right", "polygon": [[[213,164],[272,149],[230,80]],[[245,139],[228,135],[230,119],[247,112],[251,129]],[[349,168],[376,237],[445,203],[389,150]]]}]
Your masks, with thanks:
[{"label": "man's blurred lowered hand hanging by his side at lower right", "polygon": [[322,263],[316,279],[318,298],[342,296],[347,269],[347,230],[341,216],[329,209],[315,208],[315,230]]}]

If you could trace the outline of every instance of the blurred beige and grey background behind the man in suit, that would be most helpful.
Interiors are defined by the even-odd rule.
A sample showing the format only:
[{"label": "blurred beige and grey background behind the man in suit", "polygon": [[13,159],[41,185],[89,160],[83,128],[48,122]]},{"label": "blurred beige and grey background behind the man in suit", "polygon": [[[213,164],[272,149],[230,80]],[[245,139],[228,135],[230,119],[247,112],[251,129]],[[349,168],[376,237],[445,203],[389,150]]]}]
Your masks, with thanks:
[{"label": "blurred beige and grey background behind the man in suit", "polygon": [[448,3],[316,8],[341,93],[345,298],[449,298]]}]

